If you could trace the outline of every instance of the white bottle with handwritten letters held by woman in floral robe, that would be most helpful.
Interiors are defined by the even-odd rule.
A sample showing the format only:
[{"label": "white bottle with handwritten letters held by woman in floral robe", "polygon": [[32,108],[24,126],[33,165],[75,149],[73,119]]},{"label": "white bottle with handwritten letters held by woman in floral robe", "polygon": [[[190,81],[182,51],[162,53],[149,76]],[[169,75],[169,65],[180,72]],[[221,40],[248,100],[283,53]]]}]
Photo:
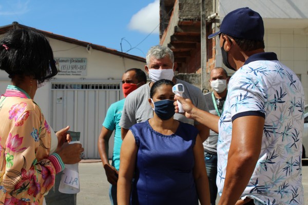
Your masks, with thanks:
[{"label": "white bottle with handwritten letters held by woman in floral robe", "polygon": [[[71,141],[69,144],[80,143],[80,141]],[[80,192],[78,164],[64,164],[65,168],[59,185],[59,192],[65,194],[76,194]]]}]

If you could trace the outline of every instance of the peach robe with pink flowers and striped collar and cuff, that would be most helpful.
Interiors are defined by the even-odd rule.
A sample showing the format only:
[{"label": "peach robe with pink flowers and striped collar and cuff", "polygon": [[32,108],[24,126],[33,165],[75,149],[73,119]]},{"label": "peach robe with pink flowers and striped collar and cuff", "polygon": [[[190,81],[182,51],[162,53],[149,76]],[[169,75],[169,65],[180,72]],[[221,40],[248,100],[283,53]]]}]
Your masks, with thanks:
[{"label": "peach robe with pink flowers and striped collar and cuff", "polygon": [[51,133],[40,107],[22,89],[8,86],[0,120],[0,204],[43,204],[63,162],[49,156]]}]

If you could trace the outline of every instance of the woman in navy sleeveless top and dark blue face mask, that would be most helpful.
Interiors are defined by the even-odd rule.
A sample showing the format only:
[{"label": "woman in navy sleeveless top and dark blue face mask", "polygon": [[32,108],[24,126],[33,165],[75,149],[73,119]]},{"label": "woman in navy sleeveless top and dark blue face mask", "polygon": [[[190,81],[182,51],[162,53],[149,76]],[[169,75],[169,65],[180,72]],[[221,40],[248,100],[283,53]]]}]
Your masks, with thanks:
[{"label": "woman in navy sleeveless top and dark blue face mask", "polygon": [[153,118],[132,126],[123,140],[118,204],[210,204],[202,142],[194,126],[173,118],[172,86],[166,79],[153,84]]}]

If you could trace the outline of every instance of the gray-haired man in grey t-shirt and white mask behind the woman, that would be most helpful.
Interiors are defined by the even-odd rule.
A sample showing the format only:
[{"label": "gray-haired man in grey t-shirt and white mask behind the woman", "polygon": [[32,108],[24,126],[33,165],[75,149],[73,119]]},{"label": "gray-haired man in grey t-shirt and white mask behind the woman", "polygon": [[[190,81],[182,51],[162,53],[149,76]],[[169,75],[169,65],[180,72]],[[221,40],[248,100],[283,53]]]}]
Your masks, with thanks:
[{"label": "gray-haired man in grey t-shirt and white mask behind the woman", "polygon": [[[151,86],[160,79],[169,79],[175,84],[183,84],[185,90],[183,97],[191,99],[194,105],[199,109],[207,111],[205,99],[201,90],[183,80],[175,78],[174,71],[176,69],[177,63],[174,62],[174,54],[168,47],[153,46],[150,48],[146,55],[145,70],[151,81],[126,97],[119,124],[121,127],[122,139],[124,139],[131,126],[153,117],[153,110],[148,103],[148,98],[150,98]],[[208,137],[209,129],[199,124],[197,121],[187,119],[185,116],[178,113],[175,114],[174,118],[195,125],[199,130],[202,141]]]}]

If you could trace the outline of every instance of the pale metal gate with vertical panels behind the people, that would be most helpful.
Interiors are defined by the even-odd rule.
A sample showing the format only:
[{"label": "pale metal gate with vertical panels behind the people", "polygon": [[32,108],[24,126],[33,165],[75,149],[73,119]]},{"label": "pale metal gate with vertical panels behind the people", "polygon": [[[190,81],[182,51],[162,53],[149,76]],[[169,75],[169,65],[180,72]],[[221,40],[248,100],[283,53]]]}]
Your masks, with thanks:
[{"label": "pale metal gate with vertical panels behind the people", "polygon": [[[84,158],[100,158],[98,137],[109,106],[120,100],[120,85],[121,82],[115,80],[82,83],[51,81],[51,127],[57,131],[69,125],[71,131],[81,132]],[[113,139],[109,140],[110,157]]]}]

